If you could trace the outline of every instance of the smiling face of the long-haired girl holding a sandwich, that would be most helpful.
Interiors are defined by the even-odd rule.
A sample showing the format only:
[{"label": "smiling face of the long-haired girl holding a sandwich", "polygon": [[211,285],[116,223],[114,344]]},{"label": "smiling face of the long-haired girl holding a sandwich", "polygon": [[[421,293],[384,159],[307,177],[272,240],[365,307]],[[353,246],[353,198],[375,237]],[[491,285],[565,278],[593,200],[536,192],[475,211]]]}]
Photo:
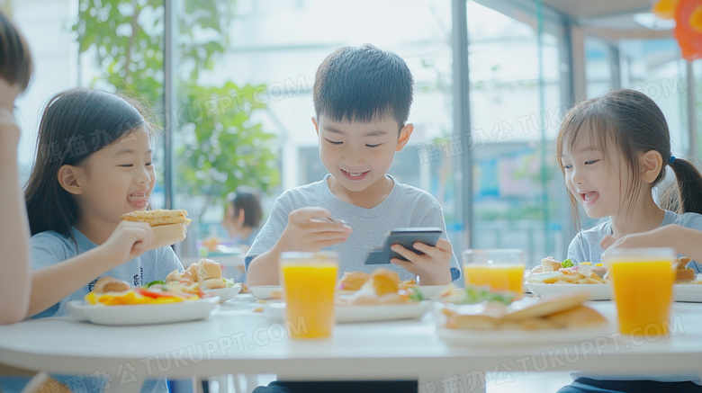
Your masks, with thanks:
[{"label": "smiling face of the long-haired girl holding a sandwich", "polygon": [[80,219],[119,223],[121,215],[144,210],[156,184],[150,134],[139,127],[94,152],[78,166]]}]

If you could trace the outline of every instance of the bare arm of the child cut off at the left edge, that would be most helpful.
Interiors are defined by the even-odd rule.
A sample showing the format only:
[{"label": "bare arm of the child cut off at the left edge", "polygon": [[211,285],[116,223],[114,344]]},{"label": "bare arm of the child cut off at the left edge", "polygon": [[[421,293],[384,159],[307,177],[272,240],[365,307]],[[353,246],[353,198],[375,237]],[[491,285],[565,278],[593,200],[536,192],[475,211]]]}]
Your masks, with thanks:
[{"label": "bare arm of the child cut off at the left edge", "polygon": [[0,110],[0,324],[23,319],[30,297],[29,222],[17,174],[20,129]]}]

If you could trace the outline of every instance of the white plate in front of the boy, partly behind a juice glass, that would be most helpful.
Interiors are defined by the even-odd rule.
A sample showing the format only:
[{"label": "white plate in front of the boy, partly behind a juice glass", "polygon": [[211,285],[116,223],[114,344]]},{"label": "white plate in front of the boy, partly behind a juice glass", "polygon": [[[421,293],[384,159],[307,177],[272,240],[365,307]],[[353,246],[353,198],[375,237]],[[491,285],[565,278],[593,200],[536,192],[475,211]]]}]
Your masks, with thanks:
[{"label": "white plate in front of the boy, partly behind a juice glass", "polygon": [[[337,323],[377,322],[398,319],[420,319],[427,313],[431,303],[420,301],[410,304],[379,304],[370,306],[337,306]],[[285,317],[285,303],[266,303],[264,311],[274,317]]]}]

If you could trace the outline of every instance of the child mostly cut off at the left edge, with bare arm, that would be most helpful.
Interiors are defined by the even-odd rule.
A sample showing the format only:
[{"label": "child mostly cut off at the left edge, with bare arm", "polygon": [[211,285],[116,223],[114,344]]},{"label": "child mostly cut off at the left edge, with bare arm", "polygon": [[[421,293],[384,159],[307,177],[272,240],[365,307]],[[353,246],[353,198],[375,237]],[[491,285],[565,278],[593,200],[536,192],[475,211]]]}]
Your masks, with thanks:
[{"label": "child mostly cut off at the left edge, with bare arm", "polygon": [[20,128],[14,100],[29,85],[31,53],[14,23],[0,12],[0,324],[22,320],[30,299],[29,225],[18,177]]}]

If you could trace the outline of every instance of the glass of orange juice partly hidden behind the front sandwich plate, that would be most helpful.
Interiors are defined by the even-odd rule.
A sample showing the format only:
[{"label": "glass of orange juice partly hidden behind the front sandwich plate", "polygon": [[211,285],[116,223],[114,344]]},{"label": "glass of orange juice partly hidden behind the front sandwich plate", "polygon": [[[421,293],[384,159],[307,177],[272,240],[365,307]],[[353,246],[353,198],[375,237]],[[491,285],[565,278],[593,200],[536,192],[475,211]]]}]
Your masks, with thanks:
[{"label": "glass of orange juice partly hidden behind the front sandwich plate", "polygon": [[487,285],[491,290],[524,293],[524,251],[518,248],[464,251],[465,285]]}]

